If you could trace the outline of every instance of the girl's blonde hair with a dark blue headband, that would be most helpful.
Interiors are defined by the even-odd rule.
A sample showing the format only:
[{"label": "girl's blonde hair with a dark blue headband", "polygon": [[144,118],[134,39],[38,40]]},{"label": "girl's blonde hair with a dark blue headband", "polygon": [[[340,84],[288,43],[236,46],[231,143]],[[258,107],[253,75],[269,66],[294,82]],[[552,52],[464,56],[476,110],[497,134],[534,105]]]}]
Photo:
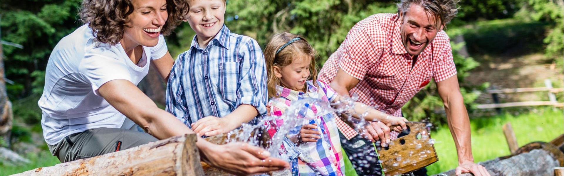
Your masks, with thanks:
[{"label": "girl's blonde hair with a dark blue headband", "polygon": [[[279,50],[280,47],[296,37],[299,37],[300,39],[290,43],[288,46],[284,47],[284,49],[280,50],[276,54],[276,51]],[[268,98],[276,98],[279,96],[277,95],[276,86],[280,85],[280,79],[274,75],[274,65],[280,68],[286,67],[292,64],[292,59],[296,58],[296,56],[298,55],[306,55],[311,57],[311,79],[313,80],[314,85],[316,87],[319,87],[317,84],[318,72],[317,69],[315,69],[317,52],[315,51],[314,47],[312,47],[305,38],[296,34],[289,32],[277,33],[272,36],[265,49],[266,73],[268,77]]]}]

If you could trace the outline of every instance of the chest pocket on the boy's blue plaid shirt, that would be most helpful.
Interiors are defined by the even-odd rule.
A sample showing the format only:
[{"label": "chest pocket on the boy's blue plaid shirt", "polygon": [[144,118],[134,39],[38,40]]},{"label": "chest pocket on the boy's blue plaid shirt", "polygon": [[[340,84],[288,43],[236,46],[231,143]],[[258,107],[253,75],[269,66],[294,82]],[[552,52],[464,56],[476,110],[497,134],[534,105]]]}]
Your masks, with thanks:
[{"label": "chest pocket on the boy's blue plaid shirt", "polygon": [[239,89],[239,62],[219,63],[218,87],[224,101],[235,103]]}]

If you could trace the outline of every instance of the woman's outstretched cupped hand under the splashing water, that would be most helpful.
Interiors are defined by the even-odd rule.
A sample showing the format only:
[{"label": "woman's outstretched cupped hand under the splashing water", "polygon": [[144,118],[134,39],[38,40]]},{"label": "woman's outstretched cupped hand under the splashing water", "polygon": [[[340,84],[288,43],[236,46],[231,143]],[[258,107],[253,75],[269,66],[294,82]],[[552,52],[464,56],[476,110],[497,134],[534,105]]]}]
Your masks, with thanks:
[{"label": "woman's outstretched cupped hand under the splashing water", "polygon": [[265,149],[246,143],[208,145],[200,147],[202,160],[231,174],[254,175],[290,167],[288,162],[270,157],[270,153]]}]

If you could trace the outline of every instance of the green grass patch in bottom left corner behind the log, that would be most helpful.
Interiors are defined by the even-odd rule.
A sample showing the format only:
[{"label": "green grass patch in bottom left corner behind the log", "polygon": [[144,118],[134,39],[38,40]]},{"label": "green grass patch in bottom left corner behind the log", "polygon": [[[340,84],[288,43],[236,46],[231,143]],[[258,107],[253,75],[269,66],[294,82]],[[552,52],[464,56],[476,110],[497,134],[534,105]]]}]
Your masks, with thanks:
[{"label": "green grass patch in bottom left corner behind the log", "polygon": [[27,170],[32,170],[39,167],[53,166],[60,163],[59,159],[57,159],[57,157],[55,156],[52,156],[49,151],[42,151],[39,153],[29,153],[27,156],[24,157],[26,159],[29,159],[31,162],[26,165],[0,164],[0,175],[17,174]]}]

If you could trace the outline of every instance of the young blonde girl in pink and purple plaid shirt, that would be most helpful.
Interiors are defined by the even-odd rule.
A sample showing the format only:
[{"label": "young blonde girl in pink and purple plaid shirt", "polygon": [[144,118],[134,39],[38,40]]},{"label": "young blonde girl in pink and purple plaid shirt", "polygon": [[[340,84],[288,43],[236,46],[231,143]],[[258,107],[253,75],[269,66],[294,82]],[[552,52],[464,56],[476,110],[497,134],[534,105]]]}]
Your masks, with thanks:
[{"label": "young blonde girl in pink and purple plaid shirt", "polygon": [[[326,83],[317,81],[315,69],[316,52],[305,38],[292,33],[279,33],[272,37],[265,49],[267,65],[268,97],[271,98],[271,114],[281,116],[290,105],[299,99],[314,98],[327,102],[337,102],[341,96]],[[311,79],[311,80],[310,80]],[[334,113],[320,113],[315,104],[304,104],[306,111],[299,111],[297,118],[305,118],[302,124],[296,124],[299,134],[287,135],[296,144],[301,154],[294,160],[293,174],[299,175],[344,175],[344,162],[341,143]],[[386,124],[400,125],[394,130],[406,128],[403,117],[387,116],[385,113],[355,102],[355,108],[349,113],[359,118],[367,112],[365,120],[382,121]],[[276,120],[277,125],[284,122]],[[284,145],[285,146],[285,145]],[[287,150],[287,149],[285,149]]]}]

